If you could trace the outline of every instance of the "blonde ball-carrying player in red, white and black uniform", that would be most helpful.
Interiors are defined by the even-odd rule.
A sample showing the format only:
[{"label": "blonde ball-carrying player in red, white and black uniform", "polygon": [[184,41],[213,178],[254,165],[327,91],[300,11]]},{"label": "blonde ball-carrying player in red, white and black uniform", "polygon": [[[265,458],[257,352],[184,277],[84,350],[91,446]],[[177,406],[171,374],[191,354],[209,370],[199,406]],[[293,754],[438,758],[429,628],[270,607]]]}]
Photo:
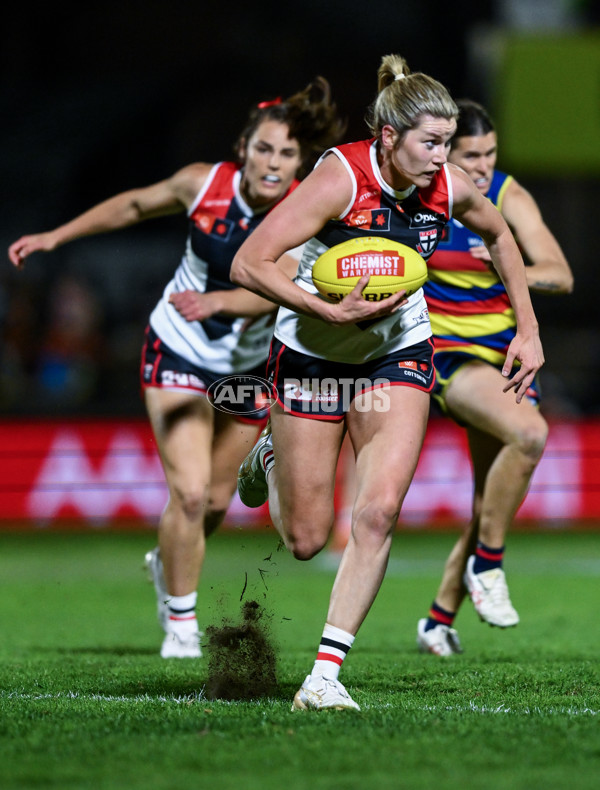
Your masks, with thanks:
[{"label": "blonde ball-carrying player in red, white and black uniform", "polygon": [[[378,78],[369,116],[374,139],[328,153],[242,245],[231,269],[234,282],[285,308],[268,367],[278,388],[272,434],[265,432],[242,464],[242,500],[257,506],[268,497],[286,546],[308,560],[326,545],[333,527],[336,466],[346,431],[356,456],[352,532],[315,664],[294,698],[293,707],[301,709],[359,707],[338,673],[385,574],[425,435],[434,381],[431,329],[420,311],[416,321],[404,322],[413,304],[403,302],[402,292],[380,302],[363,300],[368,277],[337,303],[307,289],[317,242],[330,247],[361,234],[388,235],[427,255],[451,214],[456,215],[485,239],[505,281],[517,320],[505,370],[512,369],[515,358],[521,362],[506,389],[514,388],[518,401],[543,362],[523,260],[512,234],[467,174],[446,164],[456,128],[455,103],[440,83],[410,74],[397,55],[383,58]],[[373,227],[365,225],[368,216]],[[305,242],[301,280],[291,282],[277,260]],[[422,298],[415,296],[415,302]],[[360,339],[362,332],[367,340]],[[404,345],[412,333],[414,340]],[[293,386],[288,386],[290,379]]]}]

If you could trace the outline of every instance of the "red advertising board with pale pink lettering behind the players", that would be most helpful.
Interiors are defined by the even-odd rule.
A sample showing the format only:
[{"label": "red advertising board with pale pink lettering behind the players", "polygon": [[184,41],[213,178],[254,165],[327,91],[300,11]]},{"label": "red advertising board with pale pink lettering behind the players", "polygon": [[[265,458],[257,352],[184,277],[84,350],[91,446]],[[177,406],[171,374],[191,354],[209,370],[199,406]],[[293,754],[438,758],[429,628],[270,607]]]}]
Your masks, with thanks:
[{"label": "red advertising board with pale pink lettering behind the players", "polygon": [[[385,459],[382,460],[385,464]],[[347,521],[353,467],[340,463],[337,511]],[[464,431],[432,420],[400,526],[464,521],[472,478]],[[86,524],[155,524],[167,490],[145,420],[0,422],[0,529]],[[264,525],[268,510],[236,498],[227,524]],[[551,424],[544,457],[521,506],[522,521],[600,523],[600,421]]]}]

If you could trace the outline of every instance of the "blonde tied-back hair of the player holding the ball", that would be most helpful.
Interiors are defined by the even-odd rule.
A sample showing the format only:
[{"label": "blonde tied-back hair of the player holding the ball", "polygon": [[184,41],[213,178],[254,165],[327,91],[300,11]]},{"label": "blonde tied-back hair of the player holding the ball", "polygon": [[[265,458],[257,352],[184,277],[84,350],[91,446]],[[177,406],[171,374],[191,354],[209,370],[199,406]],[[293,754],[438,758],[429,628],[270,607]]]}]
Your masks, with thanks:
[{"label": "blonde tied-back hair of the player holding the ball", "polygon": [[367,111],[366,122],[374,137],[389,124],[400,139],[418,126],[423,115],[456,118],[458,107],[441,82],[421,72],[411,73],[400,55],[385,55],[377,72],[378,95]]}]

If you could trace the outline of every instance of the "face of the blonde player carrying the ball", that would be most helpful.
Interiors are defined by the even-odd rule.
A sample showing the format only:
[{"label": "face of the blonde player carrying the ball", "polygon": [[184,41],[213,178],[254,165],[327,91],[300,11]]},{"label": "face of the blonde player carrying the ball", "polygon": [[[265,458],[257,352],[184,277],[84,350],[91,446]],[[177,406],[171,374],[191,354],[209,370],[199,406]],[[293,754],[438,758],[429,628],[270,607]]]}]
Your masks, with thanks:
[{"label": "face of the blonde player carrying the ball", "polygon": [[456,129],[453,118],[424,115],[418,126],[400,140],[393,126],[381,130],[380,168],[386,182],[398,191],[411,184],[428,187],[448,159],[450,138]]}]

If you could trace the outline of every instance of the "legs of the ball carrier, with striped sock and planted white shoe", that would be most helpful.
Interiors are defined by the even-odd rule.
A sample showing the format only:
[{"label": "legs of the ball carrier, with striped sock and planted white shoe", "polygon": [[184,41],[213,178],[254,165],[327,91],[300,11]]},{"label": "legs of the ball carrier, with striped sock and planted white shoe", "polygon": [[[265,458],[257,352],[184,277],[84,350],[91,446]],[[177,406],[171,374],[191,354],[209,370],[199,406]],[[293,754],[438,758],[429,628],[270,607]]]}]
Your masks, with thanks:
[{"label": "legs of the ball carrier, with striped sock and planted white shoe", "polygon": [[[381,586],[429,413],[429,396],[417,389],[393,386],[385,395],[389,408],[384,412],[372,408],[374,394],[368,393],[356,399],[346,415],[357,478],[351,534],[331,591],[316,659],[294,696],[293,710],[360,710],[338,675]],[[369,400],[371,408],[363,410]],[[273,424],[276,458],[269,476],[269,503],[277,505],[278,525],[286,544],[297,557],[308,559],[324,546],[333,527],[333,489],[344,431],[341,425],[315,425],[288,417],[284,431],[288,441],[278,445],[281,419],[278,415]],[[292,420],[310,425],[298,428]],[[286,447],[289,457],[280,465]]]}]

